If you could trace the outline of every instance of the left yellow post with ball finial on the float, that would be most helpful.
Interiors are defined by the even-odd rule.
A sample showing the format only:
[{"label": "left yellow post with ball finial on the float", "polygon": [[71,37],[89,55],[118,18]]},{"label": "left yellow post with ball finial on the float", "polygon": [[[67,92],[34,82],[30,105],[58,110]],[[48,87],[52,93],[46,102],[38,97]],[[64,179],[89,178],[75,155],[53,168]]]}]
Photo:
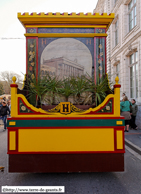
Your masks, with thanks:
[{"label": "left yellow post with ball finial on the float", "polygon": [[12,78],[13,83],[10,85],[11,87],[11,117],[16,117],[18,115],[18,105],[17,105],[17,88],[18,85],[16,82],[16,77]]}]

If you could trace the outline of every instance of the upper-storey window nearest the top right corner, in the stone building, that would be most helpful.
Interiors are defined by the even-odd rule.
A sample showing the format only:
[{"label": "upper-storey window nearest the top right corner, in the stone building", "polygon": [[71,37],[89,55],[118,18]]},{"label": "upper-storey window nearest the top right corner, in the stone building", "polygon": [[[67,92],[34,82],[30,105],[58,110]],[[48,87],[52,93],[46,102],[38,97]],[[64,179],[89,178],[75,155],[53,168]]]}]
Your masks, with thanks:
[{"label": "upper-storey window nearest the top right corner, in the stone building", "polygon": [[128,4],[129,31],[136,26],[136,0],[131,0]]}]

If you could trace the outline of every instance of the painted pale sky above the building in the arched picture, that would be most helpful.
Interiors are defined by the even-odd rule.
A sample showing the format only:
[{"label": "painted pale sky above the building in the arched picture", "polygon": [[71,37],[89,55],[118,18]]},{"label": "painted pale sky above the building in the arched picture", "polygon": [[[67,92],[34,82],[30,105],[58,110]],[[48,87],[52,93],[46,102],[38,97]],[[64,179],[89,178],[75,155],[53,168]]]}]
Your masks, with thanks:
[{"label": "painted pale sky above the building in the arched picture", "polygon": [[84,67],[84,73],[91,75],[92,56],[89,49],[82,42],[74,38],[59,38],[45,47],[41,55],[41,64],[44,60],[64,57],[77,62]]}]

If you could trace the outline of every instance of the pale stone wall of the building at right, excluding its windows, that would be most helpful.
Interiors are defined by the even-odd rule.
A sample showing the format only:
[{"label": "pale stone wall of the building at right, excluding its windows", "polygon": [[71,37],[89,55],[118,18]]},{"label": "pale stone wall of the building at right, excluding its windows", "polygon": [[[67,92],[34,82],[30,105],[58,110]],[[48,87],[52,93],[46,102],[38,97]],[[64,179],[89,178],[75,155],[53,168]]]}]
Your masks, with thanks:
[{"label": "pale stone wall of the building at right, excluding its windows", "polygon": [[[137,124],[141,128],[141,1],[136,0],[137,22],[129,31],[128,29],[128,4],[130,0],[98,0],[94,12],[115,13],[110,28],[107,31],[107,72],[114,83],[116,77],[116,65],[119,64],[119,82],[121,84],[121,95],[126,93],[130,97],[130,55],[138,52],[138,97],[135,98],[139,111],[137,114]],[[115,23],[118,21],[118,44],[114,43]]]}]

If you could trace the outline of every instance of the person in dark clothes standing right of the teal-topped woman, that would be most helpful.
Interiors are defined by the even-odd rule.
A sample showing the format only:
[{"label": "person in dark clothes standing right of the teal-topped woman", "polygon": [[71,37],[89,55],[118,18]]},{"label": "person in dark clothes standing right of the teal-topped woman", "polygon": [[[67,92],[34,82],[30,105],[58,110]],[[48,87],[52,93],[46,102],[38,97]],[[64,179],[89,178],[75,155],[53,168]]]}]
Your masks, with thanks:
[{"label": "person in dark clothes standing right of the teal-topped woman", "polygon": [[135,120],[136,120],[136,114],[137,114],[137,111],[138,111],[138,106],[136,105],[135,99],[132,99],[131,103],[132,103],[132,107],[131,107],[131,123],[130,123],[130,126],[131,126],[131,128],[137,130],[138,127],[135,124]]}]

